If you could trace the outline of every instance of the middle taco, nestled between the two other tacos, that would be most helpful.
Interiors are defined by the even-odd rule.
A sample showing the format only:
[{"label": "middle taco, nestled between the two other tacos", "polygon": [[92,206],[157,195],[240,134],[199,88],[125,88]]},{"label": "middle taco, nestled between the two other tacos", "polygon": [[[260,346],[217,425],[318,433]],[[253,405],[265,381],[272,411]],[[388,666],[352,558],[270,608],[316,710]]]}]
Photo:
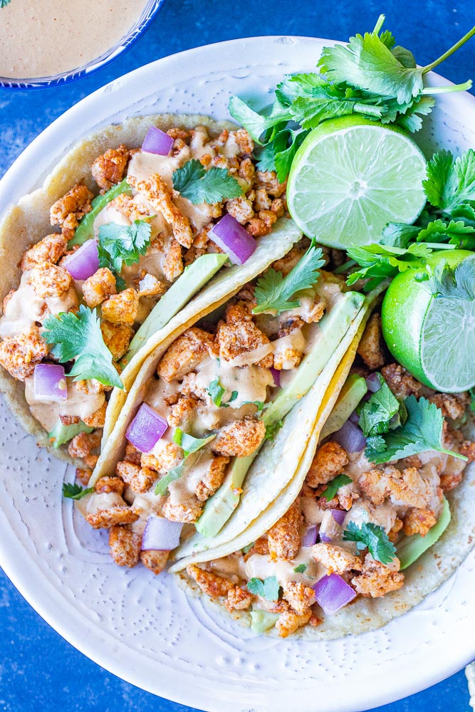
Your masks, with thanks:
[{"label": "middle taco, nestled between the two other tacos", "polygon": [[[322,251],[308,244],[145,360],[78,502],[94,528],[110,529],[116,562],[158,573],[180,540],[199,551],[236,518],[239,534],[293,476],[298,461],[280,449],[288,413],[302,414],[305,450],[318,408],[303,403],[321,402],[369,305],[319,271]],[[249,490],[248,471],[274,483]]]}]

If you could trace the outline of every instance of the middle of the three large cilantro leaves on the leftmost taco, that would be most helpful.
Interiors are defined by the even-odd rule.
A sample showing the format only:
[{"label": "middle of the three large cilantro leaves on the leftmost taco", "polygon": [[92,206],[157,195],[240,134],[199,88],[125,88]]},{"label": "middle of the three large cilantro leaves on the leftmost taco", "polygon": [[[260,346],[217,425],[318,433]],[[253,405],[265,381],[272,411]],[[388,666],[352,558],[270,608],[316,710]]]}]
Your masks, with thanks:
[{"label": "middle of the three large cilantro leaves on the leftmost taco", "polygon": [[108,223],[99,228],[99,266],[108,267],[117,276],[122,265],[133,265],[145,255],[150,245],[152,228],[145,220],[135,220],[132,225]]}]

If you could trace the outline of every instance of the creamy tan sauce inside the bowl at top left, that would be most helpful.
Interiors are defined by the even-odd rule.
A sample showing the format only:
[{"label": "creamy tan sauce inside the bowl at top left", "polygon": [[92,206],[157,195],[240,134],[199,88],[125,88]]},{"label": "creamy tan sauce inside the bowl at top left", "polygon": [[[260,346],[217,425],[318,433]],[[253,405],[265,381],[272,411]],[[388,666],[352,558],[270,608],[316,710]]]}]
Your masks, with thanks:
[{"label": "creamy tan sauce inside the bowl at top left", "polygon": [[146,0],[11,0],[0,9],[0,75],[49,77],[77,69],[115,46]]}]

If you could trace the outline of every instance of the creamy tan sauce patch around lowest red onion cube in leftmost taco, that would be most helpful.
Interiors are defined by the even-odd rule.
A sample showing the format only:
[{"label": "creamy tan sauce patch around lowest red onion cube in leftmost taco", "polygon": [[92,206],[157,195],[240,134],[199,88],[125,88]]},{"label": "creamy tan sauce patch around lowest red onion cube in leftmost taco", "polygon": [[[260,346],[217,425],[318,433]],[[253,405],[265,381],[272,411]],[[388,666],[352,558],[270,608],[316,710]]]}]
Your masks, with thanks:
[{"label": "creamy tan sauce patch around lowest red onion cube in leftmost taco", "polygon": [[68,398],[66,400],[58,403],[38,400],[34,394],[33,376],[28,376],[25,379],[25,398],[31,414],[47,432],[53,430],[60,415],[77,416],[81,420],[90,418],[105,401],[103,392],[78,390],[71,378],[68,379]]}]

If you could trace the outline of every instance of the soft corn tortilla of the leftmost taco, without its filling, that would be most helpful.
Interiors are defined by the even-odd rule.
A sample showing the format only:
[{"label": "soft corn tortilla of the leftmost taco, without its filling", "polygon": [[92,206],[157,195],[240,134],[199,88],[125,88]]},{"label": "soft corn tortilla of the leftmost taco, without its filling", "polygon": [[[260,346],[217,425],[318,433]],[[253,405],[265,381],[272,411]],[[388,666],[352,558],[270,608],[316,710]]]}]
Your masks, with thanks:
[{"label": "soft corn tortilla of the leftmost taco, without its filling", "polygon": [[[236,125],[229,121],[215,121],[204,115],[187,114],[155,114],[131,118],[121,124],[110,125],[80,141],[68,154],[61,159],[56,168],[45,179],[41,188],[29,193],[19,200],[6,212],[0,222],[0,305],[11,289],[19,286],[21,270],[19,263],[24,252],[36,244],[44,236],[51,234],[53,228],[49,220],[51,205],[63,197],[73,185],[78,182],[85,183],[90,189],[97,190],[90,172],[93,160],[108,148],[115,148],[121,143],[134,148],[142,145],[142,141],[150,128],[154,125],[163,131],[179,126],[194,128],[206,126],[211,137],[217,137],[223,129],[234,130]],[[256,253],[249,259],[244,269],[231,268],[224,270],[220,279],[210,283],[211,291],[203,300],[196,300],[191,309],[183,310],[173,320],[174,337],[179,335],[179,321],[183,314],[181,330],[188,328],[202,315],[213,308],[213,303],[218,302],[222,295],[226,297],[239,290],[239,288],[264,268],[281,257],[291,248],[294,242],[301,238],[301,231],[291,220],[282,219],[276,223],[273,232],[259,241]],[[259,268],[254,265],[259,264]],[[207,287],[208,288],[208,287]],[[203,293],[205,290],[203,290]],[[1,311],[1,309],[0,309]],[[125,402],[128,389],[137,375],[145,357],[154,349],[162,338],[167,336],[167,328],[160,330],[137,352],[127,368],[122,372],[125,384],[124,392],[116,389],[110,399],[104,429],[104,441],[107,441],[113,425],[118,418],[120,408]],[[16,381],[3,368],[0,368],[0,392],[3,392],[11,411],[19,420],[23,428],[36,437],[39,446],[47,447],[56,457],[71,461],[68,456],[68,445],[56,449],[48,439],[48,434],[41,424],[33,418],[24,394],[23,382]]]}]

